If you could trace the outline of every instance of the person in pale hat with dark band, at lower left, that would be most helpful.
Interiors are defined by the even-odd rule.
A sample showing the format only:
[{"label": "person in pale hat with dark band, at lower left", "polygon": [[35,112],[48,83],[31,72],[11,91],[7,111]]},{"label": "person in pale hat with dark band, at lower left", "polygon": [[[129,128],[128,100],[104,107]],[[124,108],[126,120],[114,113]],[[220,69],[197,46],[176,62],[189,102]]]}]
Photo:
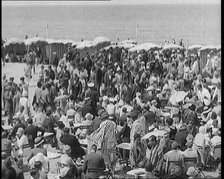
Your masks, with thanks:
[{"label": "person in pale hat with dark band, at lower left", "polygon": [[43,147],[44,142],[45,142],[45,139],[43,137],[35,138],[34,148],[31,149],[30,155],[27,157],[28,162],[33,156],[37,155],[38,153],[42,153],[45,157],[47,157],[47,149]]}]

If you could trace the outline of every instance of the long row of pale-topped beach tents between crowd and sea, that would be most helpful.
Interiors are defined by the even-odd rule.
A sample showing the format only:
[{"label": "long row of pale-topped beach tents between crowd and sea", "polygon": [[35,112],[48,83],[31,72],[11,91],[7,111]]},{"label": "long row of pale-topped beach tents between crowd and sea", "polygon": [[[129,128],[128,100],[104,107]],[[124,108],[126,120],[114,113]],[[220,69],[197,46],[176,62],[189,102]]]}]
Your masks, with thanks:
[{"label": "long row of pale-topped beach tents between crowd and sea", "polygon": [[[2,57],[7,53],[11,53],[13,56],[23,56],[30,49],[36,49],[39,46],[44,59],[48,59],[51,62],[53,52],[56,52],[59,58],[62,58],[65,53],[68,52],[68,47],[76,49],[80,53],[80,57],[83,58],[88,52],[90,55],[99,52],[102,49],[109,50],[110,48],[124,48],[129,53],[139,53],[141,50],[183,50],[188,54],[196,54],[200,52],[200,57],[203,64],[207,61],[207,54],[211,51],[221,51],[221,44],[219,45],[191,45],[183,47],[177,44],[157,45],[154,43],[137,44],[135,40],[124,40],[118,43],[112,42],[107,37],[97,37],[93,41],[84,40],[81,42],[74,42],[72,40],[53,40],[44,39],[41,37],[33,37],[25,40],[18,38],[11,38],[5,42],[2,42]],[[203,66],[203,65],[202,65]]]}]

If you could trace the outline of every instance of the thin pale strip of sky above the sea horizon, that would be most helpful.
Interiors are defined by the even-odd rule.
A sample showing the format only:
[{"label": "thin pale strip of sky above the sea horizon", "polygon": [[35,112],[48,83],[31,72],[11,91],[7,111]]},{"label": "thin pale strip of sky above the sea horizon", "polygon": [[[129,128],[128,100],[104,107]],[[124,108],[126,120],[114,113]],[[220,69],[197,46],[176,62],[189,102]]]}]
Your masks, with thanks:
[{"label": "thin pale strip of sky above the sea horizon", "polygon": [[119,4],[221,4],[221,0],[70,0],[70,1],[11,1],[3,6],[17,5],[119,5]]}]

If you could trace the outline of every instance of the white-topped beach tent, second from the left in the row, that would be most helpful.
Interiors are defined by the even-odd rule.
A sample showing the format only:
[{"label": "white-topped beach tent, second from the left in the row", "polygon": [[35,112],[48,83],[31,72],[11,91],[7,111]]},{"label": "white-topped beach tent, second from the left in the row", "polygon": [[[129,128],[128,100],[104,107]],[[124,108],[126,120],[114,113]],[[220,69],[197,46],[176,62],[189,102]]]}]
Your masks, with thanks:
[{"label": "white-topped beach tent, second from the left in the row", "polygon": [[29,50],[36,51],[37,47],[39,46],[43,59],[47,58],[47,54],[46,54],[47,41],[46,41],[46,39],[41,38],[41,37],[32,37],[32,38],[28,38],[28,39],[24,40],[24,43],[26,45],[27,52],[29,52]]}]

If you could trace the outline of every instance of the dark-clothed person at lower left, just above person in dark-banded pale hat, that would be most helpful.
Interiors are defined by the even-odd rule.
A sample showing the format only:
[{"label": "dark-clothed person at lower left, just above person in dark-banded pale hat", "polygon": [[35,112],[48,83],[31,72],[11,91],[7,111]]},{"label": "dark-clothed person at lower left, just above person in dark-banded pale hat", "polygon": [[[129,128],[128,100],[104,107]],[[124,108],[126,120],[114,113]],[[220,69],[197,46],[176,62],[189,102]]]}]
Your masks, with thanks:
[{"label": "dark-clothed person at lower left, just above person in dark-banded pale hat", "polygon": [[44,129],[42,129],[38,126],[34,126],[32,118],[27,119],[27,124],[28,124],[28,126],[26,127],[26,129],[24,131],[24,134],[28,138],[28,142],[29,142],[29,145],[30,145],[31,149],[33,149],[34,148],[34,142],[35,142],[35,139],[37,137],[37,133],[41,132],[41,136],[43,136]]}]

